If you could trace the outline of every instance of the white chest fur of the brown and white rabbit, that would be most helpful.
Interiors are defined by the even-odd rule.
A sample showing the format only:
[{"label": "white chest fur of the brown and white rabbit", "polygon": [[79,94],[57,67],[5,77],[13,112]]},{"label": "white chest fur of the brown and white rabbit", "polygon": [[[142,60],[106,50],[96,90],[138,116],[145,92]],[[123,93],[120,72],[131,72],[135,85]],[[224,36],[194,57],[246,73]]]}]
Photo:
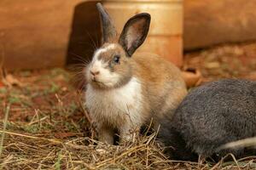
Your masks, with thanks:
[{"label": "white chest fur of the brown and white rabbit", "polygon": [[85,99],[90,116],[96,122],[117,127],[127,121],[136,126],[143,122],[142,85],[137,78],[133,77],[125,86],[111,90],[99,90],[89,84]]}]

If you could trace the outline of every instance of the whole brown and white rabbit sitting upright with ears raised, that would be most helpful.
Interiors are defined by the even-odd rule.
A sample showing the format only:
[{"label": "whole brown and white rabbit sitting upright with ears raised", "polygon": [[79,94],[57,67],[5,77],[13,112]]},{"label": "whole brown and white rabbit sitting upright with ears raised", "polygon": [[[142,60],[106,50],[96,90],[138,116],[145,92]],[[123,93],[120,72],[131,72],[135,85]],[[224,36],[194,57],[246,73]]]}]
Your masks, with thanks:
[{"label": "whole brown and white rabbit sitting upright with ears raised", "polygon": [[[134,129],[153,118],[154,127],[187,94],[179,69],[155,54],[134,54],[148,34],[150,15],[131,17],[117,37],[108,13],[97,3],[103,45],[86,67],[86,107],[99,140],[113,144],[114,130],[130,140]],[[166,49],[168,50],[168,49]]]}]

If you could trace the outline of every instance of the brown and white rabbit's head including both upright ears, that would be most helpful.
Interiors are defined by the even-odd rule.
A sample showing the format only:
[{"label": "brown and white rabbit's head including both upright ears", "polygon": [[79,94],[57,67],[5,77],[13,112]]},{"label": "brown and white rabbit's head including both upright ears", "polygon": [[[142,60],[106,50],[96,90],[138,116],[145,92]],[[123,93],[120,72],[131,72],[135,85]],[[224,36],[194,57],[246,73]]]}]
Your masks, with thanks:
[{"label": "brown and white rabbit's head including both upright ears", "polygon": [[101,3],[96,7],[102,20],[103,44],[86,68],[87,81],[95,88],[118,88],[129,82],[133,72],[132,54],[143,44],[148,35],[150,15],[131,17],[118,37],[108,13]]}]

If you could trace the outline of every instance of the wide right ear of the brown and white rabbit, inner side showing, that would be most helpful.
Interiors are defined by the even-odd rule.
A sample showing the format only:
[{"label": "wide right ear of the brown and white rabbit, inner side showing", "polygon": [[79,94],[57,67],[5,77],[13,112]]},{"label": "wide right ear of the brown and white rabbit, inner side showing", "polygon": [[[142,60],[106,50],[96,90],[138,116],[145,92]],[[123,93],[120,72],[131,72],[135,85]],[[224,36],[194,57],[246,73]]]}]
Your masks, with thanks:
[{"label": "wide right ear of the brown and white rabbit, inner side showing", "polygon": [[119,44],[131,57],[135,50],[143,44],[148,35],[150,14],[142,13],[131,17],[119,37]]}]

